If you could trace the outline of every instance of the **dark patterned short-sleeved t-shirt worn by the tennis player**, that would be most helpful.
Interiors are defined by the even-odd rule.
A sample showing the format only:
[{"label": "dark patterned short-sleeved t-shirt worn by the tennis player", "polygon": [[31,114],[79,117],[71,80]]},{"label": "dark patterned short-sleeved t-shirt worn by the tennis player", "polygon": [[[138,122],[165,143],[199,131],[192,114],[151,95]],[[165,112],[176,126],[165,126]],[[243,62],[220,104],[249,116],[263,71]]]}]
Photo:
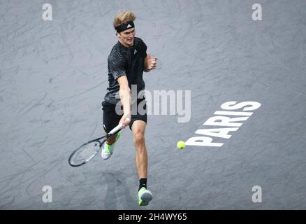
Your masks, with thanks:
[{"label": "dark patterned short-sleeved t-shirt worn by the tennis player", "polygon": [[120,76],[126,76],[131,90],[131,85],[137,85],[137,94],[140,90],[145,90],[143,70],[145,69],[145,57],[147,57],[146,51],[147,45],[137,37],[134,38],[133,46],[129,48],[126,48],[119,41],[112,47],[108,56],[109,85],[104,97],[106,102],[117,104],[120,101],[119,83],[117,81]]}]

